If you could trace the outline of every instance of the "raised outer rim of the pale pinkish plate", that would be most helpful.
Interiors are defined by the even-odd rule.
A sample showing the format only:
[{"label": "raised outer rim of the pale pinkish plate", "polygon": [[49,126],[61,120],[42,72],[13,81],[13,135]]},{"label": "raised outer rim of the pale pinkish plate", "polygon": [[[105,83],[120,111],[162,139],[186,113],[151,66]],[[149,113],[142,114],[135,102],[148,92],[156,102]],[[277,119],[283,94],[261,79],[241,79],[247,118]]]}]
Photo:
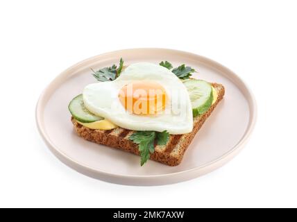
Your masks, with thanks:
[{"label": "raised outer rim of the pale pinkish plate", "polygon": [[[189,56],[195,56],[195,57],[199,57],[202,58],[203,60],[205,60],[206,62],[210,62],[216,66],[219,66],[223,69],[226,69],[226,71],[228,71],[229,74],[232,74],[232,78],[237,78],[237,80],[239,80],[239,82],[241,82],[241,84],[244,85],[244,87],[246,87],[246,91],[248,96],[250,97],[250,101],[248,101],[248,105],[250,108],[250,120],[247,126],[247,130],[244,133],[243,137],[241,137],[241,139],[239,140],[239,142],[237,144],[235,144],[235,146],[233,146],[230,151],[228,151],[227,153],[225,153],[224,155],[221,155],[220,157],[218,157],[215,160],[212,160],[211,162],[207,162],[199,167],[194,167],[192,169],[187,169],[187,170],[183,170],[183,171],[178,171],[178,172],[174,172],[174,173],[163,173],[163,174],[156,174],[156,175],[129,175],[129,174],[117,174],[117,173],[110,173],[108,171],[102,171],[102,170],[96,170],[96,169],[92,169],[91,167],[88,167],[87,165],[77,162],[76,160],[73,160],[71,157],[67,156],[65,153],[63,153],[62,151],[59,150],[59,148],[56,148],[55,145],[53,144],[53,142],[51,142],[51,139],[48,137],[48,135],[46,135],[46,132],[44,130],[44,128],[42,127],[42,109],[44,107],[44,105],[46,105],[47,101],[45,100],[45,96],[46,96],[46,92],[49,91],[49,89],[51,89],[51,87],[54,85],[54,83],[56,83],[60,78],[63,78],[64,76],[68,75],[68,72],[71,69],[74,69],[76,67],[79,67],[80,65],[82,65],[85,62],[90,62],[91,60],[94,60],[100,56],[108,56],[108,54],[112,54],[112,53],[121,53],[123,51],[143,51],[143,50],[148,50],[148,51],[170,51],[170,52],[175,52],[175,53],[184,53],[184,54],[188,54]],[[230,78],[229,76],[226,76],[227,78],[229,78],[230,80],[232,78]],[[246,96],[245,96],[246,97]],[[247,99],[247,98],[246,98]],[[248,100],[248,99],[247,99]],[[219,167],[223,166],[223,164],[226,164],[227,162],[229,162],[230,160],[232,160],[233,157],[235,157],[235,155],[237,155],[239,153],[239,151],[241,151],[242,148],[244,148],[244,145],[246,144],[246,142],[248,142],[248,139],[250,139],[251,137],[251,133],[253,132],[254,128],[255,128],[255,123],[257,121],[257,103],[255,100],[255,96],[253,94],[253,92],[251,92],[250,87],[246,84],[246,82],[244,80],[242,80],[239,76],[237,76],[237,74],[235,74],[234,71],[232,71],[231,69],[229,69],[228,67],[225,67],[224,65],[221,65],[219,62],[216,62],[210,58],[207,58],[205,56],[200,56],[196,53],[191,53],[191,52],[187,52],[187,51],[180,51],[180,50],[176,50],[176,49],[165,49],[165,48],[132,48],[132,49],[121,49],[121,50],[117,50],[117,51],[109,51],[109,52],[105,52],[105,53],[101,53],[99,55],[96,56],[92,56],[90,58],[87,58],[85,60],[81,60],[80,62],[77,62],[74,65],[71,65],[71,67],[65,69],[64,71],[62,71],[60,74],[58,74],[58,76],[56,76],[55,78],[53,78],[53,80],[51,80],[51,82],[43,89],[42,93],[40,94],[40,97],[37,101],[36,104],[36,108],[35,108],[35,121],[37,124],[37,129],[40,133],[40,135],[42,136],[43,141],[45,142],[45,144],[48,146],[48,148],[50,149],[50,151],[56,155],[56,157],[58,157],[59,160],[61,160],[64,164],[66,164],[68,167],[71,167],[72,169],[83,173],[87,176],[90,176],[92,178],[96,178],[99,180],[105,180],[108,182],[113,182],[113,183],[117,183],[117,184],[122,184],[122,185],[166,185],[166,184],[171,184],[171,183],[175,183],[175,182],[182,182],[185,180],[190,180],[193,178],[196,178],[198,176],[202,176],[205,173],[210,173],[211,171],[214,171],[215,169],[218,169]],[[183,174],[189,174],[189,173],[196,173],[195,176],[186,176],[186,179],[183,180],[174,180],[174,178],[176,178],[177,176],[183,175]],[[102,177],[106,177],[106,178],[102,178]],[[148,182],[149,180],[151,180],[152,178],[171,178],[172,177],[172,181],[170,182],[153,182],[152,184],[146,184],[146,182]],[[114,181],[115,178],[122,178],[125,181]],[[130,179],[133,179],[133,182],[129,182]],[[141,179],[139,181],[135,181],[135,179]],[[144,179],[144,180],[142,180]]]}]

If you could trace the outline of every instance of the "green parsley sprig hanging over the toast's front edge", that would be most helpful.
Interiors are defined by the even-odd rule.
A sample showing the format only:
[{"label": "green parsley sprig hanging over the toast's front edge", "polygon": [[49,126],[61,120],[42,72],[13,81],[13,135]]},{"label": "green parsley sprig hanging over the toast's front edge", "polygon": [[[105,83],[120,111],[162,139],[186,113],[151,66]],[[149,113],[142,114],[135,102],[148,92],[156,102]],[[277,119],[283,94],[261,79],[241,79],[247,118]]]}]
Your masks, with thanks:
[{"label": "green parsley sprig hanging over the toast's front edge", "polygon": [[162,133],[155,131],[137,131],[133,133],[133,135],[130,135],[129,139],[135,142],[135,144],[139,144],[138,150],[140,152],[140,164],[142,166],[149,159],[151,153],[155,151],[155,139],[158,145],[165,145],[168,142],[169,133],[167,133],[167,131],[163,131]]}]

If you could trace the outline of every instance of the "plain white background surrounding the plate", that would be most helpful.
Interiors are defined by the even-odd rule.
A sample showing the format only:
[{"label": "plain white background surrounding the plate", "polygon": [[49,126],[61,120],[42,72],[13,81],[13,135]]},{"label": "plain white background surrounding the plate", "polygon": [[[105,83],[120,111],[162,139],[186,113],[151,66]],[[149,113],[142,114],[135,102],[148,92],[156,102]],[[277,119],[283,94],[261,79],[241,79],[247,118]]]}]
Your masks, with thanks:
[{"label": "plain white background surrounding the plate", "polygon": [[[107,51],[162,47],[226,65],[251,87],[255,131],[226,166],[161,187],[113,185],[54,157],[42,89]],[[0,207],[297,207],[296,1],[1,1]]]}]

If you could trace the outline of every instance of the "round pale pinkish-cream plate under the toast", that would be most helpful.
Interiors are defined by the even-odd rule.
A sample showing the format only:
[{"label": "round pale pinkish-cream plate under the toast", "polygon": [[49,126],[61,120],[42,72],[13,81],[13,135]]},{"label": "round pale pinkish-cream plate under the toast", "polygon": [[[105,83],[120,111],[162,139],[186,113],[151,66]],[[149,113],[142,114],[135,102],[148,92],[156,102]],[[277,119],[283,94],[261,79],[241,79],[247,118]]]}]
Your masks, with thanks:
[{"label": "round pale pinkish-cream plate under the toast", "polygon": [[[226,87],[226,95],[189,146],[178,167],[148,161],[115,148],[87,142],[73,130],[67,109],[83,87],[96,80],[90,68],[117,64],[168,60],[198,70],[195,77]],[[196,178],[213,171],[234,157],[255,125],[255,99],[246,84],[230,69],[210,59],[171,49],[126,49],[94,56],[57,76],[42,92],[36,109],[37,126],[51,151],[65,164],[87,176],[125,185],[165,185]]]}]

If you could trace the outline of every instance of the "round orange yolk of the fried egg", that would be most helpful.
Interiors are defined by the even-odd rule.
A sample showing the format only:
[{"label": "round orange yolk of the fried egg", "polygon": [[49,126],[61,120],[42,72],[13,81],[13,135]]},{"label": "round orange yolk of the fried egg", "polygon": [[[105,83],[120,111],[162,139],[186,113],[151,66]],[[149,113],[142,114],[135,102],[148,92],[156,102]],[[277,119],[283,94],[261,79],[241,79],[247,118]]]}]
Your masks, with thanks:
[{"label": "round orange yolk of the fried egg", "polygon": [[124,108],[133,114],[157,114],[165,110],[167,103],[165,89],[153,81],[137,81],[124,85],[119,100]]}]

